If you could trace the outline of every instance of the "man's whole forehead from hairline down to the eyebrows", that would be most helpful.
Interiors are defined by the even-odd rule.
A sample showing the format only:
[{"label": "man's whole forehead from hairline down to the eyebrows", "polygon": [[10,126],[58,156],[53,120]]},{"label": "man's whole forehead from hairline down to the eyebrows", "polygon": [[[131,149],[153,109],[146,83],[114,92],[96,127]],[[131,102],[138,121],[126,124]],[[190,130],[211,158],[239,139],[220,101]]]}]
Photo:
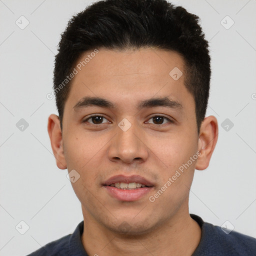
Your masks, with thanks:
[{"label": "man's whole forehead from hairline down to the eyebrows", "polygon": [[191,97],[184,86],[183,58],[174,51],[140,48],[94,52],[84,52],[76,61],[77,73],[71,81],[67,104],[72,101],[74,105],[87,95],[107,98],[116,105],[135,104],[136,99],[154,95],[185,105],[182,101]]}]

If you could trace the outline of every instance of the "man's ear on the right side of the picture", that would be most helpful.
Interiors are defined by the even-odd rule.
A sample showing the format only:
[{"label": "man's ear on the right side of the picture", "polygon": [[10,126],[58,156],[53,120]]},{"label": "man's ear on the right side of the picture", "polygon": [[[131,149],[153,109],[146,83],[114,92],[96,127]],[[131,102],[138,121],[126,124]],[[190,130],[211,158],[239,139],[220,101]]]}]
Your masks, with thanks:
[{"label": "man's ear on the right side of the picture", "polygon": [[208,167],[210,157],[213,153],[218,138],[218,123],[213,116],[207,116],[201,123],[198,137],[198,155],[195,169],[204,170]]}]

